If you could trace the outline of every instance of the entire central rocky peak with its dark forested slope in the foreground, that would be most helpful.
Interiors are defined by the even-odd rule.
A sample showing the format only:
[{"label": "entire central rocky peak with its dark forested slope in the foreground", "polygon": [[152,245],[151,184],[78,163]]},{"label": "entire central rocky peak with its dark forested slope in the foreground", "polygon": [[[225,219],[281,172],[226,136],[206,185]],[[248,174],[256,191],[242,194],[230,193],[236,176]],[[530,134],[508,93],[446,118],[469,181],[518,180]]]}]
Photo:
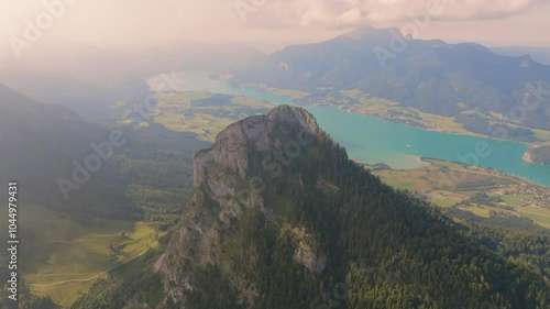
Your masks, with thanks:
[{"label": "entire central rocky peak with its dark forested slope in the foreground", "polygon": [[154,268],[163,308],[548,308],[548,278],[383,185],[298,108],[237,122],[195,157]]}]

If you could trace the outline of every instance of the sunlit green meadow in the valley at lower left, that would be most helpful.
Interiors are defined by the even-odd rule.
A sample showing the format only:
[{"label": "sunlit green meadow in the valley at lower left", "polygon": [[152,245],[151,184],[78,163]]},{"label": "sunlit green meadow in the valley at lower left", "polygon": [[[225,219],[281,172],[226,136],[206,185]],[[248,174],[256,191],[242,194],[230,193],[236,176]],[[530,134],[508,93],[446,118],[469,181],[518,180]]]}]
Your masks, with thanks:
[{"label": "sunlit green meadow in the valley at lower left", "polygon": [[47,296],[63,308],[86,294],[109,271],[157,245],[165,232],[152,222],[94,219],[81,225],[63,213],[21,205],[25,239],[23,279],[30,291]]}]

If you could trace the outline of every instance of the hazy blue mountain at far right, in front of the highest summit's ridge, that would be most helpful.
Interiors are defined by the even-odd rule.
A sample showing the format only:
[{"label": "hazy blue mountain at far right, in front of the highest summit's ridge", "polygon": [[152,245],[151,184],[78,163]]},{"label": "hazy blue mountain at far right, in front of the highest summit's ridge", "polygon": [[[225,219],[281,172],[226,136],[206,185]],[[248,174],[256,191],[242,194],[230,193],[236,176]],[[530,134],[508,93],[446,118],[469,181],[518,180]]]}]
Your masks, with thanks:
[{"label": "hazy blue mountain at far right, in front of the highest summit's ridge", "polygon": [[[466,109],[508,114],[522,103],[527,85],[537,81],[550,81],[550,66],[528,56],[499,56],[476,44],[446,44],[393,64],[352,87],[433,113],[453,115],[463,109],[458,103],[464,103]],[[542,119],[531,125],[550,128]]]}]

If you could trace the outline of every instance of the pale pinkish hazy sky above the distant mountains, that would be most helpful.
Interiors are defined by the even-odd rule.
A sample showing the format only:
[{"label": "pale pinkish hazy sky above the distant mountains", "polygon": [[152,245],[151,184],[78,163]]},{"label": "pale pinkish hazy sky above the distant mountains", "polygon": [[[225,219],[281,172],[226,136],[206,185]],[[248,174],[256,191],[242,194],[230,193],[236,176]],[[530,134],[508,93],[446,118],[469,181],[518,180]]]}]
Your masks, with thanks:
[{"label": "pale pinkish hazy sky above the distant mountains", "polygon": [[[550,47],[550,0],[0,0],[0,54],[20,38],[33,48],[64,40],[311,42],[367,24],[404,27],[417,16],[421,38]],[[24,37],[29,21],[44,29],[36,42]]]}]

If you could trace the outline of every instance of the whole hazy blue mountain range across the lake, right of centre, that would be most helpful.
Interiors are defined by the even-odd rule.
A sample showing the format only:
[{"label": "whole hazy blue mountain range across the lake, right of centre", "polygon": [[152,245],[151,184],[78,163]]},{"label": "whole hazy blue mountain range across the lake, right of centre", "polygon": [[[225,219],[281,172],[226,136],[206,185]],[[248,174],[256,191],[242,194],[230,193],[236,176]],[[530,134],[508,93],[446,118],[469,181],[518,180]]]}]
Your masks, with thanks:
[{"label": "whole hazy blue mountain range across the lake, right of centre", "polygon": [[[529,89],[550,89],[550,66],[530,56],[498,55],[475,43],[413,40],[397,29],[364,27],[286,47],[235,70],[233,80],[314,95],[360,89],[430,113],[479,110],[514,118]],[[541,101],[536,109],[530,103],[516,120],[550,129],[550,103]]]}]

